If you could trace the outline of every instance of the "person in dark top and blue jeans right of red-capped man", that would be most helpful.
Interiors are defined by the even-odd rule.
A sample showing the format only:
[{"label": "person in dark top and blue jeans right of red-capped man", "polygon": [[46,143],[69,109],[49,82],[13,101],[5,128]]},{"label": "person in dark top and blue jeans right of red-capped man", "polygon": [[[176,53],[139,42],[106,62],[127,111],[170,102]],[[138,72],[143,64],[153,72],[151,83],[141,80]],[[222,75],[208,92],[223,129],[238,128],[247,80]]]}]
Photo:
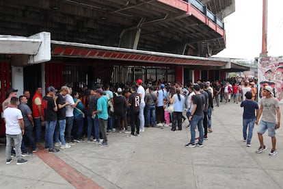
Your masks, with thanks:
[{"label": "person in dark top and blue jeans right of red-capped man", "polygon": [[[144,97],[146,102],[146,127],[155,126],[155,104],[158,102],[157,95],[154,93],[154,87],[150,86],[149,92]],[[163,113],[164,114],[164,113]]]}]

